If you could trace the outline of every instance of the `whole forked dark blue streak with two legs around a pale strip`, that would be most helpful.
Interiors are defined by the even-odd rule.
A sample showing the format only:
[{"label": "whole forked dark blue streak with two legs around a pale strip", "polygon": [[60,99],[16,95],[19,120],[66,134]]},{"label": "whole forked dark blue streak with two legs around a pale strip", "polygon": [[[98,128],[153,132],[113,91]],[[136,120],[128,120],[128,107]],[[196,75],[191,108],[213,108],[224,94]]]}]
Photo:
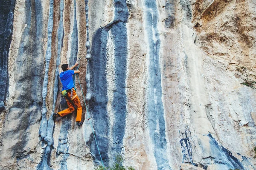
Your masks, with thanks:
[{"label": "whole forked dark blue streak with two legs around a pale strip", "polygon": [[[87,2],[87,0],[86,0]],[[126,62],[127,62],[127,28],[128,8],[125,0],[115,0],[115,17],[114,20],[103,28],[99,28],[93,36],[92,57],[87,60],[89,64],[92,100],[89,102],[89,108],[94,119],[94,129],[96,131],[96,139],[99,144],[99,150],[104,163],[108,163],[109,137],[113,137],[111,155],[115,156],[121,153],[122,140],[125,133],[125,117],[126,117]],[[115,83],[116,91],[113,94],[112,108],[114,117],[109,118],[107,113],[108,104],[108,86],[106,78],[106,48],[108,41],[108,31],[111,30],[114,40],[115,49]],[[87,48],[88,49],[88,48]],[[89,75],[89,77],[90,77]],[[88,81],[89,79],[87,79]],[[113,127],[109,127],[109,119],[114,119]],[[109,128],[113,129],[113,136],[109,136]],[[100,160],[96,144],[91,148],[93,155]]]}]

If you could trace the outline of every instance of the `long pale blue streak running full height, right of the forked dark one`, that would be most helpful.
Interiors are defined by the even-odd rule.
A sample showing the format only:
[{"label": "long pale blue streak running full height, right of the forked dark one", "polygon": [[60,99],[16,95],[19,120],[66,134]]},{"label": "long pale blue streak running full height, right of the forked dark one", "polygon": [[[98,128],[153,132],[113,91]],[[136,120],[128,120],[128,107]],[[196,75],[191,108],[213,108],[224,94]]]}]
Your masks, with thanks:
[{"label": "long pale blue streak running full height, right of the forked dark one", "polygon": [[159,61],[160,37],[157,30],[158,11],[155,0],[144,2],[145,30],[148,40],[148,128],[153,143],[157,169],[171,169],[166,153],[166,128],[162,102],[161,69]]}]

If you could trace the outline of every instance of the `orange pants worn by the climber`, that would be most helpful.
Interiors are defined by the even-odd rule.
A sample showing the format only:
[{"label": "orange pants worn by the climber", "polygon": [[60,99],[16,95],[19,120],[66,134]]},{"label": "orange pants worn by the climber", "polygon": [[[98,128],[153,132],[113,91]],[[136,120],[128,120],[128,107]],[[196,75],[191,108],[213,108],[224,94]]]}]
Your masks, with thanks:
[{"label": "orange pants worn by the climber", "polygon": [[[76,91],[73,89],[73,96],[76,95]],[[67,114],[70,114],[70,113],[73,113],[75,111],[75,107],[73,106],[73,103],[74,105],[76,106],[77,108],[77,111],[76,111],[76,122],[81,122],[81,119],[82,119],[82,106],[81,106],[81,103],[80,103],[80,100],[78,98],[78,96],[76,96],[72,101],[71,101],[71,91],[68,91],[67,92],[67,96],[65,97],[66,101],[67,101],[67,105],[68,105],[68,108],[63,110],[63,111],[60,111],[58,112],[58,114],[62,117],[62,116],[65,116]]]}]

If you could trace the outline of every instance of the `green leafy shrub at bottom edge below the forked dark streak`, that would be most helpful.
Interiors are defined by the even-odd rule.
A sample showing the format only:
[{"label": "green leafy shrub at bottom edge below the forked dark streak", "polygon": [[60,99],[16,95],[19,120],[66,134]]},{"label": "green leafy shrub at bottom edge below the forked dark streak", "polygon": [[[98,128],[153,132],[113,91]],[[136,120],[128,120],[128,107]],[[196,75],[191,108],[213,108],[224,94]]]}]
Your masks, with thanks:
[{"label": "green leafy shrub at bottom edge below the forked dark streak", "polygon": [[134,167],[124,167],[122,165],[124,159],[121,155],[117,155],[115,157],[115,163],[113,164],[112,167],[103,167],[99,166],[95,170],[135,170]]}]

